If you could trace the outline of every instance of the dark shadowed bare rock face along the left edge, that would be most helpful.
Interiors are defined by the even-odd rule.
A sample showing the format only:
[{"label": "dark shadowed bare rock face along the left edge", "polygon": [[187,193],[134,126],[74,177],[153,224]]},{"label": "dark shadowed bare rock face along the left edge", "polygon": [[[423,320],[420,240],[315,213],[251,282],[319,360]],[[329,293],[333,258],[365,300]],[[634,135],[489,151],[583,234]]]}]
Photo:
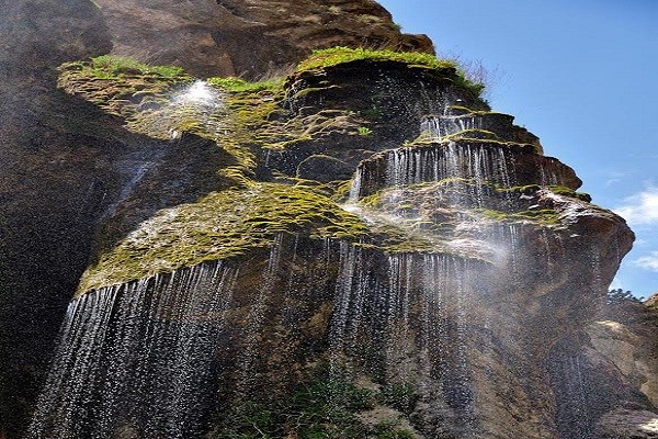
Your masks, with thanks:
[{"label": "dark shadowed bare rock face along the left edge", "polygon": [[2,1],[0,9],[0,437],[15,438],[87,264],[88,213],[102,196],[91,183],[109,165],[97,149],[107,140],[66,125],[91,114],[111,122],[59,92],[55,68],[112,45],[88,1]]}]

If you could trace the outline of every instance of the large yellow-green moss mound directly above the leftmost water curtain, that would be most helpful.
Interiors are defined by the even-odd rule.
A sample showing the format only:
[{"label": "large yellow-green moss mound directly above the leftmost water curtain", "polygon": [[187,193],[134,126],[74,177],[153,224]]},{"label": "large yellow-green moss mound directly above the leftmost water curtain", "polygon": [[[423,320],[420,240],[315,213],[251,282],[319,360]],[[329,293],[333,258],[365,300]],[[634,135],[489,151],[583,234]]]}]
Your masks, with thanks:
[{"label": "large yellow-green moss mound directly above the leftmost water curtain", "polygon": [[250,183],[196,203],[159,212],[84,273],[79,292],[240,257],[272,244],[279,233],[356,241],[367,228],[330,199],[299,188]]}]

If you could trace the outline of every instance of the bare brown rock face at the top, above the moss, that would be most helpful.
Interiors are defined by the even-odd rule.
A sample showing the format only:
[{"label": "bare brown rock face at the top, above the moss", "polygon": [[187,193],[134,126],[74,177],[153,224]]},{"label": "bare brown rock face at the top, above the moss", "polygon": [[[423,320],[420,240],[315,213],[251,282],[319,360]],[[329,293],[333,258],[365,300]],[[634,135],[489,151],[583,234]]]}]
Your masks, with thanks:
[{"label": "bare brown rock face at the top, above the moss", "polygon": [[311,49],[340,45],[433,52],[426,36],[400,34],[372,0],[98,3],[115,54],[181,65],[200,77],[276,75]]}]

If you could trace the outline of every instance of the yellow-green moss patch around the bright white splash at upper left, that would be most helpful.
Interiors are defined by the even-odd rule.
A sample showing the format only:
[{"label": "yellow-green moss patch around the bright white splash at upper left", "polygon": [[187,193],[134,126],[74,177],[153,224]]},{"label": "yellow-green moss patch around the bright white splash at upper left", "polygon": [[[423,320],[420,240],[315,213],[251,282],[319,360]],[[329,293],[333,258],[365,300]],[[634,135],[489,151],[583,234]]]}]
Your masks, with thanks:
[{"label": "yellow-green moss patch around the bright white splash at upper left", "polygon": [[182,69],[112,56],[65,64],[60,71],[60,88],[123,117],[132,132],[161,140],[188,133],[216,142],[237,164],[218,173],[242,187],[253,176],[253,149],[262,143],[259,136],[266,132],[268,119],[279,109],[275,101],[281,100],[282,80],[251,83],[213,78],[209,83],[219,95],[215,108],[177,102],[173,98],[193,80]]}]

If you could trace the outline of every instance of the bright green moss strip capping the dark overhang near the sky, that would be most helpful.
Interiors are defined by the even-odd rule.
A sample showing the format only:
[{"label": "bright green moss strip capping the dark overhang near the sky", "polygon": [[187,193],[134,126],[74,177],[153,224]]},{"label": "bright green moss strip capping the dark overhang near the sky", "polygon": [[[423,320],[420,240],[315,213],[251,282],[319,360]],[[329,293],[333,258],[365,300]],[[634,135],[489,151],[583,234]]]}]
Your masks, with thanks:
[{"label": "bright green moss strip capping the dark overhang near the sky", "polygon": [[434,55],[416,52],[368,50],[364,48],[332,47],[314,50],[313,54],[297,65],[297,71],[318,70],[339,64],[356,60],[398,61],[409,67],[423,67],[439,70],[451,78],[455,85],[470,90],[474,95],[481,94],[485,86],[466,78],[458,64],[452,59],[436,58]]}]

